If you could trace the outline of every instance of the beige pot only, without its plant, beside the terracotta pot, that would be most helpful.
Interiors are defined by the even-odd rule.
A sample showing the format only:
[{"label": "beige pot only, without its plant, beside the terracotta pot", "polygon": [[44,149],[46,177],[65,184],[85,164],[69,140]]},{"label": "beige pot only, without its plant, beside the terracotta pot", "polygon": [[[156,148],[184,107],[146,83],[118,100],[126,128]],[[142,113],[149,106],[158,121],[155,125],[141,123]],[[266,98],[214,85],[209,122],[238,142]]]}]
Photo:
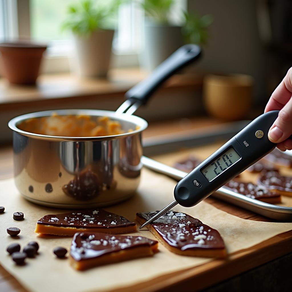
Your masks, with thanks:
[{"label": "beige pot only, without its plant, beside the terracotta pot", "polygon": [[112,54],[114,30],[98,30],[89,36],[74,34],[74,71],[80,77],[106,77]]}]

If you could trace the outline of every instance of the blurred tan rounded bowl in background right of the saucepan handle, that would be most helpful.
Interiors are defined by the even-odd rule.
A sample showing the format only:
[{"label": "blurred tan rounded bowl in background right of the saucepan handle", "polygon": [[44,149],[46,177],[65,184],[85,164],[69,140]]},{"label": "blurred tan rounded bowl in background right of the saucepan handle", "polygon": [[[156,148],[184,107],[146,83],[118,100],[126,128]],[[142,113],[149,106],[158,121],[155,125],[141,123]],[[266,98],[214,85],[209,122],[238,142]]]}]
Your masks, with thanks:
[{"label": "blurred tan rounded bowl in background right of the saucepan handle", "polygon": [[252,89],[249,75],[207,75],[203,82],[206,111],[227,121],[242,119],[251,108]]}]

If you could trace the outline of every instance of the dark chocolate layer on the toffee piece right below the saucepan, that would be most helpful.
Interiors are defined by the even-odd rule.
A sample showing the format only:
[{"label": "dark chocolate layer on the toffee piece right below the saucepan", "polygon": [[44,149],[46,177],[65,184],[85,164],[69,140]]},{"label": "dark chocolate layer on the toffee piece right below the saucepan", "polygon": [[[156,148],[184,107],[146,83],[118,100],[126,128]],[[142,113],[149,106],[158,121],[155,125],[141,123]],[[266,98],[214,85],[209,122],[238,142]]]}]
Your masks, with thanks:
[{"label": "dark chocolate layer on the toffee piece right below the saucepan", "polygon": [[103,209],[87,209],[62,214],[49,214],[39,219],[37,224],[86,229],[113,229],[136,225],[135,222],[131,222],[123,216],[109,213]]}]

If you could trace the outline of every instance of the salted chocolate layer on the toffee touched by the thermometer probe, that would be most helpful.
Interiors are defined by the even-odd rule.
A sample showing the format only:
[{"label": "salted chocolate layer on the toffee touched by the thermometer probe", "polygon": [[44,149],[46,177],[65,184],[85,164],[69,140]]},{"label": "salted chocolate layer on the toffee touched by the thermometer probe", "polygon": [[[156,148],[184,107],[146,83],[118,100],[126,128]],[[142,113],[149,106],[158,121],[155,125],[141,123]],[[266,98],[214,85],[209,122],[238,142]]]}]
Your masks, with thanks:
[{"label": "salted chocolate layer on the toffee touched by the thermometer probe", "polygon": [[[137,213],[138,218],[149,220],[156,212]],[[180,251],[203,248],[222,248],[224,242],[219,232],[190,215],[169,211],[151,224],[156,232],[170,246]]]}]

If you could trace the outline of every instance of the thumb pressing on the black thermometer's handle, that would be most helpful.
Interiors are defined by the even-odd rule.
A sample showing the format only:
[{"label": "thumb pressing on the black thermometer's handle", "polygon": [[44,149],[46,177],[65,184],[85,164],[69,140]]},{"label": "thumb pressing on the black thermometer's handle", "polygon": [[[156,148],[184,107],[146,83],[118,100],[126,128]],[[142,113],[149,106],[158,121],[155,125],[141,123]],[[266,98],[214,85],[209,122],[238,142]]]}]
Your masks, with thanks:
[{"label": "thumb pressing on the black thermometer's handle", "polygon": [[280,110],[279,115],[272,124],[268,137],[271,142],[279,143],[292,134],[292,98]]}]

